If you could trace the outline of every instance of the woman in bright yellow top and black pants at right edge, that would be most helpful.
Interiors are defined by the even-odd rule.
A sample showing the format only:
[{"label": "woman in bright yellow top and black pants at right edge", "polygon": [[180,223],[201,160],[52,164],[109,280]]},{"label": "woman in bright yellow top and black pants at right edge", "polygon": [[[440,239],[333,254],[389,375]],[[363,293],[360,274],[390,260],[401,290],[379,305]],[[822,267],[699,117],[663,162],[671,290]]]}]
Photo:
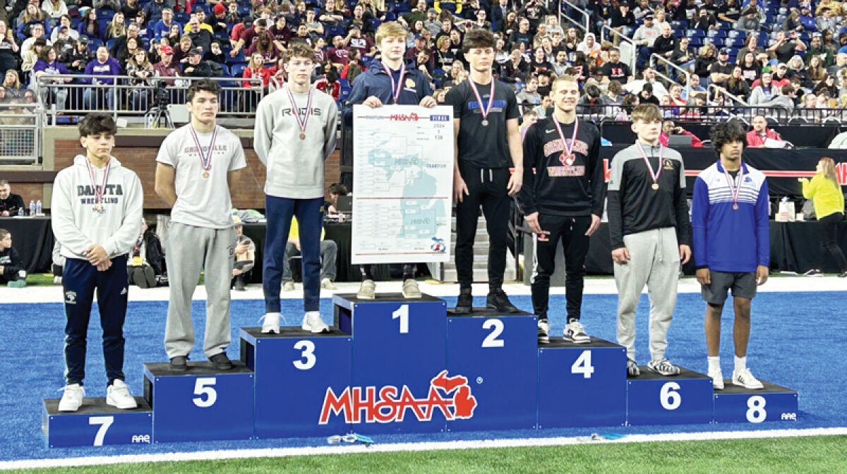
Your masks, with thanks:
[{"label": "woman in bright yellow top and black pants at right edge", "polygon": [[835,162],[832,158],[822,157],[817,162],[815,172],[811,181],[800,178],[800,183],[803,184],[803,197],[812,200],[815,215],[821,223],[821,256],[817,267],[804,274],[809,277],[823,276],[822,268],[832,258],[839,267],[839,277],[847,278],[847,260],[839,248],[838,230],[839,222],[844,220],[844,194],[835,173]]}]

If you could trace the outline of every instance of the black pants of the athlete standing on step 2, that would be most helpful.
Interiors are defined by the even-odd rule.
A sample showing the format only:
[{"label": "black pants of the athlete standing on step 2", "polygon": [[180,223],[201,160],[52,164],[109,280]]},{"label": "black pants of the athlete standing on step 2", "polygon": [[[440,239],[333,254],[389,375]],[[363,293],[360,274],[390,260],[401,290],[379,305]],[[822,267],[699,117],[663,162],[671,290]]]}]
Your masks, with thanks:
[{"label": "black pants of the athlete standing on step 2", "polygon": [[483,169],[459,164],[459,173],[468,186],[468,195],[456,203],[456,273],[460,288],[473,283],[473,240],[476,237],[479,207],[488,230],[488,285],[503,286],[506,271],[507,234],[509,232],[509,170]]}]

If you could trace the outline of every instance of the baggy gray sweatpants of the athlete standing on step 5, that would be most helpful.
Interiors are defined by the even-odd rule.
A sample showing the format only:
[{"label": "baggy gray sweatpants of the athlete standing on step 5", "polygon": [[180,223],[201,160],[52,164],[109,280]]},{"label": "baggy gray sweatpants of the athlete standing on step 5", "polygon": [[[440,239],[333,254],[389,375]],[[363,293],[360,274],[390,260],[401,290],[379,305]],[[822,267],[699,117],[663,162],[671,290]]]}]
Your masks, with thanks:
[{"label": "baggy gray sweatpants of the athlete standing on step 5", "polygon": [[235,254],[235,229],[208,229],[171,223],[168,228],[168,323],[164,350],[168,358],[188,356],[194,347],[191,296],[200,270],[206,284],[206,333],[203,354],[224,352],[230,345],[230,279]]}]

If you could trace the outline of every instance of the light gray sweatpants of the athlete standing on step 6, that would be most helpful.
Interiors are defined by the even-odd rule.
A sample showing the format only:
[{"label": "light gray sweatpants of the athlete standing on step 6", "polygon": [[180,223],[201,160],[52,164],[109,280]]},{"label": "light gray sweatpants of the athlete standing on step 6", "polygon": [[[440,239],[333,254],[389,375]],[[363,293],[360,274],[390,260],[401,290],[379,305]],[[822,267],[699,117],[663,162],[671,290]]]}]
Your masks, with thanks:
[{"label": "light gray sweatpants of the athlete standing on step 6", "polygon": [[635,308],[647,284],[650,297],[650,356],[662,359],[667,349],[667,328],[677,303],[679,246],[673,227],[623,236],[629,262],[615,263],[617,285],[617,343],[635,360]]}]

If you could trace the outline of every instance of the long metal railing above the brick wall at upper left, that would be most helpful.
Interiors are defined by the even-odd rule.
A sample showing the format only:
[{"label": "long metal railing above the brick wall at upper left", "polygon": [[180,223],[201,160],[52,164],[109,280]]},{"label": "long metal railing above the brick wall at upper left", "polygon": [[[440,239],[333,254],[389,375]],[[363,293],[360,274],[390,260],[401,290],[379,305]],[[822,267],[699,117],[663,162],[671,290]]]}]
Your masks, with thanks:
[{"label": "long metal railing above the brick wall at upper left", "polygon": [[[42,74],[36,80],[36,97],[56,123],[59,115],[111,113],[114,118],[149,116],[152,109],[184,104],[191,82],[207,78],[152,77],[141,84],[125,75]],[[252,118],[264,96],[262,80],[231,77],[208,78],[221,85],[219,118]],[[70,80],[69,82],[65,82]],[[112,84],[92,84],[111,80]],[[251,87],[243,87],[248,82]],[[148,124],[149,126],[149,124]]]}]

